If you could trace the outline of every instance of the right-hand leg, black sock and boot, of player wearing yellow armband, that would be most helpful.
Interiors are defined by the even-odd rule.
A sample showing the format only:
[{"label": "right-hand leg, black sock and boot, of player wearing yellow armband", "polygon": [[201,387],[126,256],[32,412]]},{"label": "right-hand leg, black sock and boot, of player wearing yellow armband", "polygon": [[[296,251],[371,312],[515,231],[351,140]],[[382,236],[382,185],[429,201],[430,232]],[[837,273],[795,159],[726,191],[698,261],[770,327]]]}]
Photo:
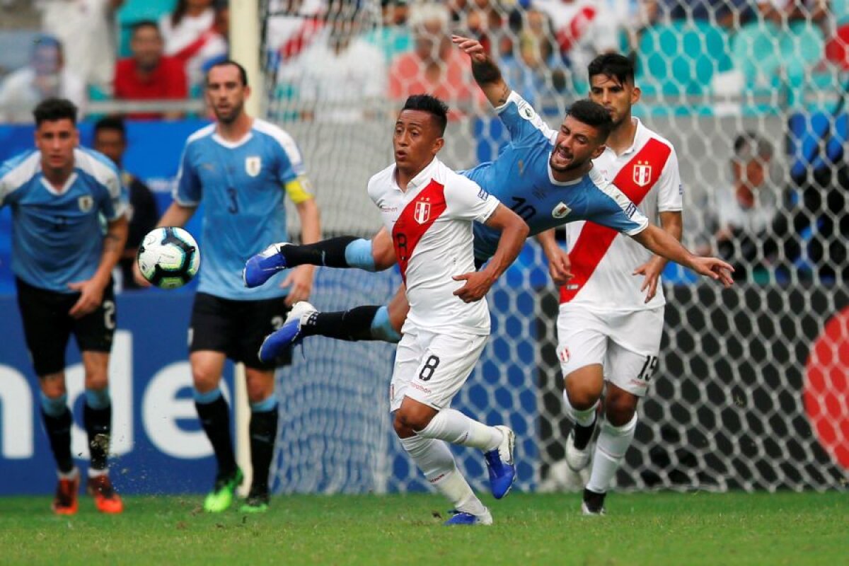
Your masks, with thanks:
[{"label": "right-hand leg, black sock and boot, of player wearing yellow armband", "polygon": [[277,439],[278,405],[274,396],[273,370],[245,367],[245,382],[250,402],[250,465],[253,479],[242,513],[263,513],[270,501],[268,470]]}]

